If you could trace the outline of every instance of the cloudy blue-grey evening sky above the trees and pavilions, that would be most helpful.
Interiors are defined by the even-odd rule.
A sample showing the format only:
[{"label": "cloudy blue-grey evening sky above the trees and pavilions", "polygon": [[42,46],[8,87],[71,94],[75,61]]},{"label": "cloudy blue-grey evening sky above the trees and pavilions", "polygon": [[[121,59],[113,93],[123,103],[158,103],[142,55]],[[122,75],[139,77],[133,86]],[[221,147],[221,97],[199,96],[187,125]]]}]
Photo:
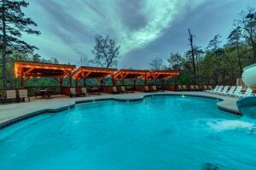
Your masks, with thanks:
[{"label": "cloudy blue-grey evening sky above the trees and pavilions", "polygon": [[147,69],[166,62],[171,53],[189,49],[188,28],[195,45],[206,48],[217,34],[226,42],[233,20],[256,0],[27,0],[26,15],[40,36],[24,35],[44,58],[77,64],[93,58],[95,35],[109,35],[121,46],[118,68]]}]

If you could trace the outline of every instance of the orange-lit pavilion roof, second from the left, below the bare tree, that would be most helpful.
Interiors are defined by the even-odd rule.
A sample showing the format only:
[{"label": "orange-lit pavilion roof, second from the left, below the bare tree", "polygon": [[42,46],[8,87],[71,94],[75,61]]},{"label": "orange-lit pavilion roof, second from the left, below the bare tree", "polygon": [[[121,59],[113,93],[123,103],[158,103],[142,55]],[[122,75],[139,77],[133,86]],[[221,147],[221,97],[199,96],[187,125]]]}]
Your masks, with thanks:
[{"label": "orange-lit pavilion roof, second from the left, below the bare tree", "polygon": [[117,69],[81,66],[77,71],[73,72],[73,79],[104,78],[113,75],[116,71]]}]

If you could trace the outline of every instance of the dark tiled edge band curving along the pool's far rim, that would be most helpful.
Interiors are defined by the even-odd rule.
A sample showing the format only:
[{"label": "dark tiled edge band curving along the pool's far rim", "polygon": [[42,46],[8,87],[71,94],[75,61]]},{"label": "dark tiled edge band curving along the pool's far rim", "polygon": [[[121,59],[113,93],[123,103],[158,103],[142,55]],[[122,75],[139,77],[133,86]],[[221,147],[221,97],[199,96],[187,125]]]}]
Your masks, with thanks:
[{"label": "dark tiled edge band curving along the pool's far rim", "polygon": [[152,97],[152,96],[160,96],[160,95],[166,95],[166,96],[190,96],[190,97],[201,97],[201,98],[208,98],[208,99],[218,99],[219,102],[217,104],[218,109],[221,111],[225,111],[228,112],[230,114],[236,115],[236,116],[241,116],[241,113],[239,111],[235,111],[232,110],[230,108],[224,107],[222,105],[219,105],[220,102],[224,101],[225,99],[222,99],[220,97],[213,97],[213,96],[207,96],[207,95],[201,95],[201,94],[161,94],[161,93],[154,93],[154,94],[142,94],[142,96],[138,96],[137,98],[116,98],[116,97],[109,97],[109,98],[102,98],[102,99],[82,99],[82,100],[76,100],[73,101],[73,104],[71,105],[65,105],[65,106],[61,106],[59,108],[55,108],[55,109],[44,109],[41,111],[33,111],[31,113],[27,113],[26,115],[23,116],[18,116],[15,117],[14,119],[11,119],[9,121],[6,122],[2,122],[0,123],[0,130],[5,128],[5,127],[9,127],[17,122],[21,122],[24,121],[26,119],[32,118],[33,116],[39,116],[42,115],[44,113],[58,113],[61,111],[67,111],[68,109],[72,109],[73,107],[75,107],[75,105],[78,104],[83,104],[83,103],[90,103],[90,102],[96,102],[96,101],[104,101],[104,100],[113,100],[113,101],[119,101],[119,102],[135,102],[135,101],[141,101],[145,98],[148,97]]}]

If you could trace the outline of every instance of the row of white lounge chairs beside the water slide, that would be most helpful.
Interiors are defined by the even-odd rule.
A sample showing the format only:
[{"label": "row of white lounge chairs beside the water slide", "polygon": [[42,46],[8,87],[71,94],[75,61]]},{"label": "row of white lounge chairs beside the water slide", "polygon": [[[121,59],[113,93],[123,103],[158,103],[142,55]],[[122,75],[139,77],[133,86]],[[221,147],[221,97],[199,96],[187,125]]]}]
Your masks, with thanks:
[{"label": "row of white lounge chairs beside the water slide", "polygon": [[244,94],[242,94],[241,90],[241,86],[216,86],[214,89],[207,90],[206,92],[209,94],[219,94],[238,98],[253,95],[252,88],[247,88]]}]

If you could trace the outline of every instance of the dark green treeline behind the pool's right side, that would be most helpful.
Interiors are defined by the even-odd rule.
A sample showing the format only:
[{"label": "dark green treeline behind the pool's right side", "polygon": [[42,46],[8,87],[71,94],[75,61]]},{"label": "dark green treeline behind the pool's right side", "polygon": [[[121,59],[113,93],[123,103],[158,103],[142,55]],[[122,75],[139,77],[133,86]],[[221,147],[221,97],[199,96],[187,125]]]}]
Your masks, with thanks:
[{"label": "dark green treeline behind the pool's right side", "polygon": [[256,63],[256,11],[248,8],[234,20],[234,29],[224,45],[221,36],[209,41],[207,48],[195,44],[196,36],[188,31],[189,50],[172,53],[165,65],[162,59],[149,63],[152,70],[180,70],[180,84],[235,84],[242,68]]}]

